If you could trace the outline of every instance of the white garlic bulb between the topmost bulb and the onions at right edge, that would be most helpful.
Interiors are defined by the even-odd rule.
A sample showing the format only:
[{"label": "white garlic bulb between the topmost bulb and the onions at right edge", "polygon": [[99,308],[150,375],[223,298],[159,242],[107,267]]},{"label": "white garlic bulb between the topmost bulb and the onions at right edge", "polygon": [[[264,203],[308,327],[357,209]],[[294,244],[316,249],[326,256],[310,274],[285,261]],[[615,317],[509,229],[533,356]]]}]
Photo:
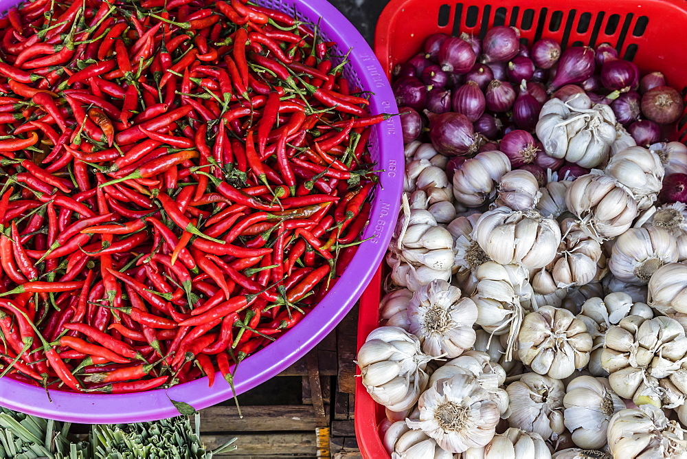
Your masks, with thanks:
[{"label": "white garlic bulb between the topmost bulb and the onions at right edge", "polygon": [[629,188],[640,210],[651,207],[662,188],[661,159],[641,146],[625,148],[611,157],[604,172]]}]

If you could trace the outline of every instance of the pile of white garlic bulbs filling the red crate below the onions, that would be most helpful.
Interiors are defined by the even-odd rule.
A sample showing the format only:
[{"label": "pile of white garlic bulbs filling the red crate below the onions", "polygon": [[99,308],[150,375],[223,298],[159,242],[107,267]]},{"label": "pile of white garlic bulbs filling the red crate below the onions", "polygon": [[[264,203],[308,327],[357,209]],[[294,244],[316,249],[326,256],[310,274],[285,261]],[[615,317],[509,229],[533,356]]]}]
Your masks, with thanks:
[{"label": "pile of white garlic bulbs filling the red crate below the onions", "polygon": [[541,183],[498,150],[449,172],[407,145],[381,328],[358,356],[392,458],[687,458],[671,151],[613,144],[587,175]]}]

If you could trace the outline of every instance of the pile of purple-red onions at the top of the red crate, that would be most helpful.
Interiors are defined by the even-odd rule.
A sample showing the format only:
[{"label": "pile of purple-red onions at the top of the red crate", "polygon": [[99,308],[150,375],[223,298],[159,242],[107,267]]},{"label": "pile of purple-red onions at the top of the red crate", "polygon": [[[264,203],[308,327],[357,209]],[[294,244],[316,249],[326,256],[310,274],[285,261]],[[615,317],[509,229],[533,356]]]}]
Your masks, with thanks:
[{"label": "pile of purple-red onions at the top of the red crate", "polygon": [[[442,155],[462,158],[498,149],[513,168],[543,182],[548,169],[561,179],[588,172],[547,155],[534,134],[550,98],[587,93],[592,102],[608,104],[616,127],[622,125],[644,147],[666,142],[684,111],[682,97],[663,74],[642,74],[609,43],[562,51],[556,41],[542,38],[526,47],[519,30],[507,26],[493,27],[482,40],[432,34],[421,52],[396,66],[392,86],[404,113],[406,143],[431,142]],[[682,177],[668,177],[666,183],[682,183]],[[671,199],[675,194],[682,196],[671,193]]]}]

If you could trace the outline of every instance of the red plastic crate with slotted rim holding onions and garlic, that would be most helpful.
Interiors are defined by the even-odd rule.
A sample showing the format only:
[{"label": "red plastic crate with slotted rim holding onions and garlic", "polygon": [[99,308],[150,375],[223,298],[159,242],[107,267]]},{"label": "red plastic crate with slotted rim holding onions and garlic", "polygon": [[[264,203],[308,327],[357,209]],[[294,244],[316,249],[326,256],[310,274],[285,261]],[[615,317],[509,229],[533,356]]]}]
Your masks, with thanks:
[{"label": "red plastic crate with slotted rim holding onions and garlic", "polygon": [[[687,1],[684,0],[523,0],[464,1],[392,0],[377,23],[374,52],[390,76],[394,65],[420,51],[429,34],[483,37],[495,25],[512,25],[522,42],[554,38],[563,48],[609,42],[620,57],[642,71],[662,71],[668,85],[687,93]],[[687,109],[673,139],[687,139]],[[360,301],[358,348],[378,326],[380,268]],[[384,408],[372,401],[360,380],[355,399],[355,431],[363,458],[389,458],[379,436]]]}]

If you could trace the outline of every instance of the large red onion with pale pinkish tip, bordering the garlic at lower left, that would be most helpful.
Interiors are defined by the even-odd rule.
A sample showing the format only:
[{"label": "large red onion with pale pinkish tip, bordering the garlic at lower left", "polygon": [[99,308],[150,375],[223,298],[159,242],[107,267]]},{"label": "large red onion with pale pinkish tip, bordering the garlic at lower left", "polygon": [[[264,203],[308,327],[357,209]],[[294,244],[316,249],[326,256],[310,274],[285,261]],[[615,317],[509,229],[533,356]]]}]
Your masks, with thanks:
[{"label": "large red onion with pale pinkish tip, bordering the garlic at lower left", "polygon": [[444,156],[471,155],[480,148],[480,137],[473,125],[461,113],[435,115],[425,110],[429,117],[429,138],[436,150]]}]

